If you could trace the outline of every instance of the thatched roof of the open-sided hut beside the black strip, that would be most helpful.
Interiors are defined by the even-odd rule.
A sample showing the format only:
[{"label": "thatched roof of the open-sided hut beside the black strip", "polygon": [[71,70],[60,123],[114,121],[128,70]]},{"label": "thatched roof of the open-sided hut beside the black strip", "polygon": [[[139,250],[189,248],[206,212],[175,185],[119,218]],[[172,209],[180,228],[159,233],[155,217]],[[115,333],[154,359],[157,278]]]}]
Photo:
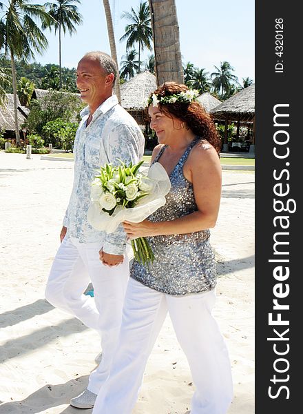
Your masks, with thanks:
[{"label": "thatched roof of the open-sided hut beside the black strip", "polygon": [[253,121],[255,116],[255,85],[241,90],[211,110],[214,119],[229,121]]}]

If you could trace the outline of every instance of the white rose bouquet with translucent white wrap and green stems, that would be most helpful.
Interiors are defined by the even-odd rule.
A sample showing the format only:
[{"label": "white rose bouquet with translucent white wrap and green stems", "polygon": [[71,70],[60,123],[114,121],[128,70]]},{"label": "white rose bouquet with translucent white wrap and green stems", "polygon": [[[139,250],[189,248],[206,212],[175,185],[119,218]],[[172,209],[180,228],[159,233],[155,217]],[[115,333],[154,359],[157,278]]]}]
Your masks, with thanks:
[{"label": "white rose bouquet with translucent white wrap and green stems", "polygon": [[[140,223],[164,206],[171,184],[158,162],[147,175],[139,172],[143,161],[128,166],[105,164],[92,182],[87,219],[96,230],[113,233],[123,221]],[[153,262],[154,253],[145,237],[132,240],[134,257],[142,264]]]}]

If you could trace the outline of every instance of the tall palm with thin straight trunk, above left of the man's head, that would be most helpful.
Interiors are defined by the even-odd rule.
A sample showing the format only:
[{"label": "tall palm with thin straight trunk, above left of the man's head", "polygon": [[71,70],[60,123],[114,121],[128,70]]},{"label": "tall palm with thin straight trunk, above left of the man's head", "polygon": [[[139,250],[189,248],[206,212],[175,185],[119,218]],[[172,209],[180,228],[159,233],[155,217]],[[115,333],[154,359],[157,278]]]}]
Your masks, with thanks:
[{"label": "tall palm with thin straight trunk, above left of the man's head", "polygon": [[52,28],[54,32],[59,32],[59,72],[60,72],[60,88],[62,88],[62,66],[61,66],[61,31],[65,34],[68,30],[70,36],[76,32],[75,24],[82,23],[82,16],[74,3],[81,3],[80,0],[56,0],[56,3],[45,3],[48,13],[53,18],[52,23],[43,28]]}]

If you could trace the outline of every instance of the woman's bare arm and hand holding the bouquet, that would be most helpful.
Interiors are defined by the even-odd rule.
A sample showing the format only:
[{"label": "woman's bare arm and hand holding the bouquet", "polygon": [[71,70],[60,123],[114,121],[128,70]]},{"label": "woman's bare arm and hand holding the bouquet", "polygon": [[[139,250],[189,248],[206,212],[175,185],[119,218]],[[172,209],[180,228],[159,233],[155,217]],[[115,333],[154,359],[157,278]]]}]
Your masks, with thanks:
[{"label": "woman's bare arm and hand holding the bouquet", "polygon": [[193,233],[216,225],[221,195],[221,165],[216,150],[209,144],[198,144],[191,150],[184,173],[193,184],[198,210],[171,221],[125,221],[123,227],[130,239]]}]

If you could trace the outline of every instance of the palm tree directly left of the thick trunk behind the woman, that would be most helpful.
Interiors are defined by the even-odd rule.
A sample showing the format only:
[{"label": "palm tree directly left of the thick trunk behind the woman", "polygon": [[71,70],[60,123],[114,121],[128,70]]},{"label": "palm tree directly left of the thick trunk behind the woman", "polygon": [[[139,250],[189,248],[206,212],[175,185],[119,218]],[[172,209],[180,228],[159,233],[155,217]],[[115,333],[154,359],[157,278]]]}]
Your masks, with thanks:
[{"label": "palm tree directly left of the thick trunk behind the woman", "polygon": [[151,50],[151,40],[153,38],[151,30],[151,17],[147,1],[140,1],[138,12],[132,8],[132,11],[123,12],[123,18],[127,19],[130,24],[125,27],[125,34],[121,37],[120,41],[127,39],[126,48],[132,48],[138,43],[138,72],[140,72],[141,63],[141,50],[147,47]]}]

